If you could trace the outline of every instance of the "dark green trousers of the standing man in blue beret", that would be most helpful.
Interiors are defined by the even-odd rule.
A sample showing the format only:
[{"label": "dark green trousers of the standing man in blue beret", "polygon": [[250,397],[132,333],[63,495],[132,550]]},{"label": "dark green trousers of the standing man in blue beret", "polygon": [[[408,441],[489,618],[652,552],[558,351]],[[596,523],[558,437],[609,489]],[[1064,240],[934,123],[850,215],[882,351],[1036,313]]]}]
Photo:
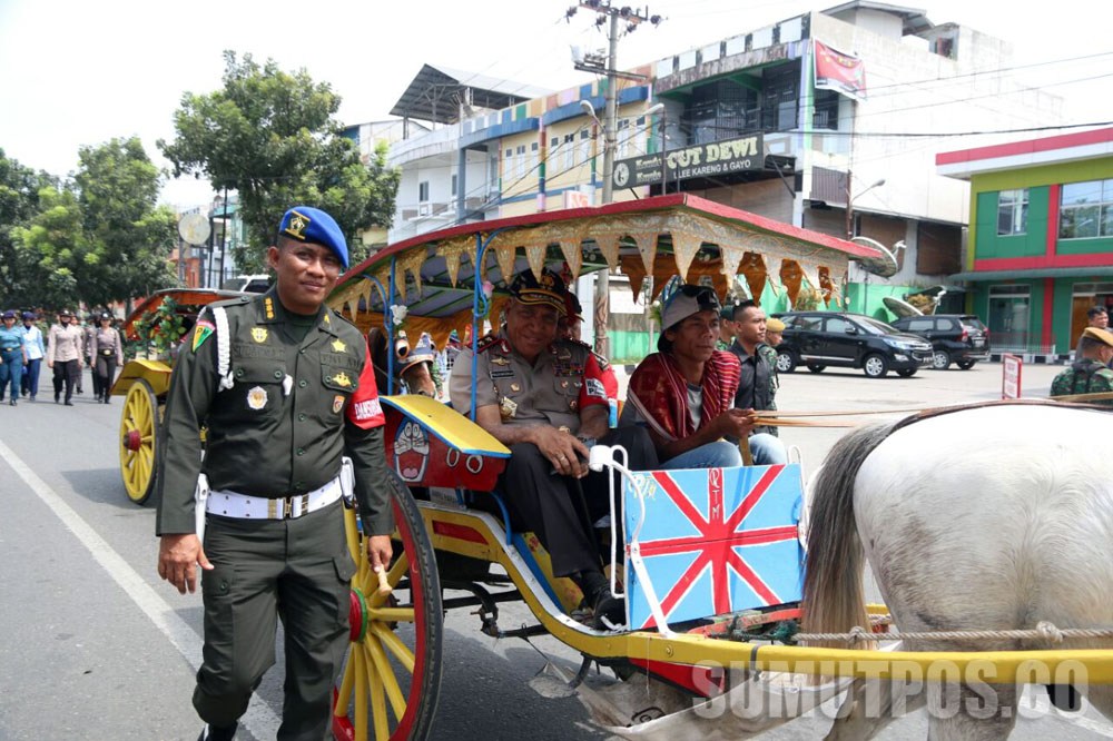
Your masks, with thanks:
[{"label": "dark green trousers of the standing man in blue beret", "polygon": [[280,741],[321,741],[348,636],[348,580],[339,502],[297,520],[209,514],[201,577],[204,663],[194,708],[214,725],[235,723],[275,663],[277,619],[285,635]]}]

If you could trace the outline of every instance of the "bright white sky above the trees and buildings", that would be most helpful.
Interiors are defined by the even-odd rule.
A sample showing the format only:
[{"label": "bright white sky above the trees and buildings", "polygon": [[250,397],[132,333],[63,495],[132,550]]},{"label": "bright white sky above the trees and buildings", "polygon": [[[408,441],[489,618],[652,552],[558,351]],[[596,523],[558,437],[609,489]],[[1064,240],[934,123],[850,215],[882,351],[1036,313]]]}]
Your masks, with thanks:
[{"label": "bright white sky above the trees and buildings", "polygon": [[[572,68],[569,47],[605,47],[594,13],[581,9],[565,20],[572,1],[0,0],[0,149],[27,167],[65,176],[77,168],[79,147],[138,136],[148,156],[167,167],[155,142],[173,139],[185,92],[220,88],[226,49],[328,82],[343,98],[344,124],[390,118],[425,62],[564,89],[591,79]],[[624,37],[619,67],[835,4],[659,0],[649,11],[663,22]],[[925,0],[904,7],[923,10],[936,24],[956,22],[1009,42],[1014,63],[1031,66],[1033,83],[1064,98],[1067,122],[1113,121],[1107,0]],[[191,176],[168,178],[162,189],[162,201],[179,208],[211,197],[208,184]]]}]

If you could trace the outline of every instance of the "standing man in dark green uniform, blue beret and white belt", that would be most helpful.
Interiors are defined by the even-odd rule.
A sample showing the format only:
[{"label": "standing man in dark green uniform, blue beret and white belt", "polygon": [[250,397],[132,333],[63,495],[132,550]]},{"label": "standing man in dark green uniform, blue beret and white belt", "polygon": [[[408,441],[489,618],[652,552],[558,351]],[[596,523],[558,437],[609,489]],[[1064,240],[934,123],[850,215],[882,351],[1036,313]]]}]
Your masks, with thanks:
[{"label": "standing man in dark green uniform, blue beret and white belt", "polygon": [[359,330],[324,306],[348,265],[344,235],[324,211],[296,207],[267,260],[277,275],[270,292],[206,307],[183,343],[159,445],[158,573],[184,594],[204,570],[194,691],[203,740],[235,737],[274,664],[279,618],[286,696],[277,738],[321,741],[328,728],[355,573],[342,456],[353,461],[372,566],[392,555],[395,480],[371,359]]}]

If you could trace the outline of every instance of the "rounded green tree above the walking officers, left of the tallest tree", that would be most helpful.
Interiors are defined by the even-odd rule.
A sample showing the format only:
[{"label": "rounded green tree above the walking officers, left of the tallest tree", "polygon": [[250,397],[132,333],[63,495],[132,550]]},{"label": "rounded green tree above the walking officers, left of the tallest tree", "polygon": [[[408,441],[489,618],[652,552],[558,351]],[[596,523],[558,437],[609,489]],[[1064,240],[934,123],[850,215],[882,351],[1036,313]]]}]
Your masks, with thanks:
[{"label": "rounded green tree above the walking officers, left of the tallest tree", "polygon": [[81,298],[104,306],[167,288],[177,217],[158,206],[159,172],[138,138],[78,150],[76,176],[86,238]]}]

